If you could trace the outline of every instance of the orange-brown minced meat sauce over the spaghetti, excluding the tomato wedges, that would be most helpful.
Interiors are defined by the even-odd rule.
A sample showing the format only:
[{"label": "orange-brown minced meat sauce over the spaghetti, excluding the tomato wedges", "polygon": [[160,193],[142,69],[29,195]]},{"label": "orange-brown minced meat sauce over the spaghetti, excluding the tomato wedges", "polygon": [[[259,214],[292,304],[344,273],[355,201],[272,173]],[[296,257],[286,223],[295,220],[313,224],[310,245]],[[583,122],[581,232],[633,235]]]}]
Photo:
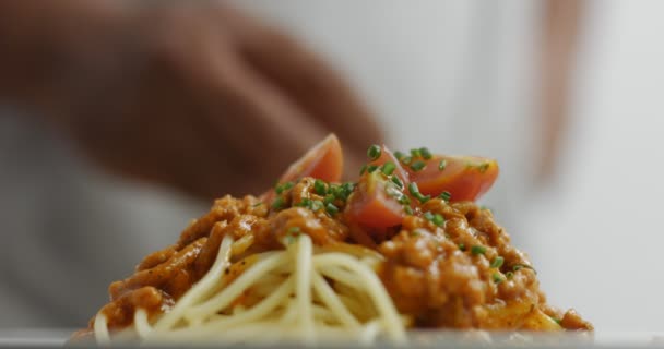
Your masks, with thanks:
[{"label": "orange-brown minced meat sauce over the spaghetti, excluding the tomato wedges", "polygon": [[[226,234],[247,242],[246,248],[236,244],[239,251],[234,251],[232,262],[250,261],[244,257],[283,249],[280,241],[288,234],[287,227],[299,227],[319,246],[345,242],[380,253],[384,262],[379,276],[415,327],[593,328],[573,310],[562,312],[546,303],[535,269],[510,244],[490,210],[472,202],[431,198],[414,205],[401,225],[377,233],[349,220],[342,200],[333,202],[337,213],[306,205],[324,198],[316,193],[315,183],[304,178],[284,190],[277,195],[278,207],[254,196],[217,200],[176,244],[147,255],[133,275],[110,285],[110,302],[100,310],[109,329],[130,326],[139,308],[151,318],[167,312],[208,273]],[[442,224],[427,219],[425,213],[441,216]],[[245,262],[236,263],[225,273],[237,276],[245,267]],[[543,324],[543,318],[550,323]],[[90,335],[93,322],[75,337]]]}]

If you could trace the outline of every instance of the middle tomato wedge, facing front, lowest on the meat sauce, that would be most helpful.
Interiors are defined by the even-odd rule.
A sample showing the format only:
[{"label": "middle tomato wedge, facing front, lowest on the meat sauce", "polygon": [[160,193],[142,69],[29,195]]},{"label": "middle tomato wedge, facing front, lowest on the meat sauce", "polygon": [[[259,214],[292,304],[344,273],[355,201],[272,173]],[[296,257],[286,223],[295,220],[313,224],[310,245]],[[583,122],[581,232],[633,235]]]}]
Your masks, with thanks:
[{"label": "middle tomato wedge, facing front, lowest on the meat sauce", "polygon": [[372,228],[400,225],[405,213],[399,201],[388,195],[388,185],[380,171],[365,173],[348,198],[346,218]]}]

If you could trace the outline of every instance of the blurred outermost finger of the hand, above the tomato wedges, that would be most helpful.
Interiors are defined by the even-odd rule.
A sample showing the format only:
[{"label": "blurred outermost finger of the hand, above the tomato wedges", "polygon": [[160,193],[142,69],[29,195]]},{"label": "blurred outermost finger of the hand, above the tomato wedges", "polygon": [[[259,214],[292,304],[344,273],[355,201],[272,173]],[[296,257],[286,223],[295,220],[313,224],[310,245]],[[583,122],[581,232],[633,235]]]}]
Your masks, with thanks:
[{"label": "blurred outermost finger of the hand, above the tomato wedges", "polygon": [[337,133],[352,151],[364,152],[382,141],[372,112],[336,71],[292,37],[227,11],[245,59],[303,110]]}]

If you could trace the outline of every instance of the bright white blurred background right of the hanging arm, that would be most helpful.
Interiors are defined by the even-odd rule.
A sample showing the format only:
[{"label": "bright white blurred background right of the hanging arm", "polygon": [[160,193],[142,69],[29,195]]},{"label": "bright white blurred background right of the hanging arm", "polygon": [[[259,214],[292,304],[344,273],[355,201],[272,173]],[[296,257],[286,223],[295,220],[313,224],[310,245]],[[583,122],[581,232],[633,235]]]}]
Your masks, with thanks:
[{"label": "bright white blurred background right of the hanging arm", "polygon": [[663,1],[595,1],[564,177],[529,215],[550,299],[603,332],[664,330]]}]

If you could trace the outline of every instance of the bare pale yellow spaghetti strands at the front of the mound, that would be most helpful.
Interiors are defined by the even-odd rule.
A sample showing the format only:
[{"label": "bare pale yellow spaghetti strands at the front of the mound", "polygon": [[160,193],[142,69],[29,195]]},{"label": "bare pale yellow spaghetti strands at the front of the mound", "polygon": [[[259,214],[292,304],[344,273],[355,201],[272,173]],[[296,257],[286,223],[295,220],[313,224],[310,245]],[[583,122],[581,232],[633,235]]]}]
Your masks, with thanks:
[{"label": "bare pale yellow spaghetti strands at the front of the mound", "polygon": [[[301,234],[285,251],[256,255],[258,261],[252,266],[228,280],[224,270],[230,266],[233,245],[233,238],[225,237],[210,272],[153,324],[147,312],[138,309],[130,329],[135,334],[132,339],[234,342],[260,334],[271,340],[313,344],[343,335],[346,340],[369,344],[384,334],[404,342],[406,320],[398,313],[376,274],[380,262],[376,253],[367,250],[355,256],[316,251],[311,239]],[[345,287],[330,285],[336,282]],[[262,299],[244,306],[236,302],[242,294]],[[358,299],[370,302],[358,306],[353,301]],[[94,334],[98,344],[110,344],[102,313],[95,318]]]}]

